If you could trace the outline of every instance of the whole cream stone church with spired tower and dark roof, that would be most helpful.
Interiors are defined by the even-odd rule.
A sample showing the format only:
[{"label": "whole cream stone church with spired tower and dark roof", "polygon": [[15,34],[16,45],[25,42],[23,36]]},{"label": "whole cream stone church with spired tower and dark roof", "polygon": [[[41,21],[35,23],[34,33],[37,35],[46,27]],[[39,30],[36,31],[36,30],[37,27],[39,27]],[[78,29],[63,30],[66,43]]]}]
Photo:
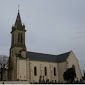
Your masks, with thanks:
[{"label": "whole cream stone church with spired tower and dark roof", "polygon": [[65,82],[64,72],[75,67],[76,78],[82,78],[78,59],[72,51],[51,55],[27,51],[25,45],[25,25],[22,24],[18,10],[15,25],[11,31],[11,47],[9,55],[9,80],[39,82],[39,79],[53,82]]}]

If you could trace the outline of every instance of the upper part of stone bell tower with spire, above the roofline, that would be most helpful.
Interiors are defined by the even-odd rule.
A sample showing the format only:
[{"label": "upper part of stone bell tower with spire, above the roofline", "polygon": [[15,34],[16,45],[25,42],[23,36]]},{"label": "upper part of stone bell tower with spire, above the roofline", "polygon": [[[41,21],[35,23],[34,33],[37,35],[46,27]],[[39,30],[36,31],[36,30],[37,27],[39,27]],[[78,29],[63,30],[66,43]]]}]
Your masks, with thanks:
[{"label": "upper part of stone bell tower with spire, above the roofline", "polygon": [[15,21],[15,25],[12,26],[11,31],[11,48],[10,48],[10,56],[19,53],[20,50],[26,51],[25,46],[25,25],[22,25],[20,13],[18,10],[17,18]]}]

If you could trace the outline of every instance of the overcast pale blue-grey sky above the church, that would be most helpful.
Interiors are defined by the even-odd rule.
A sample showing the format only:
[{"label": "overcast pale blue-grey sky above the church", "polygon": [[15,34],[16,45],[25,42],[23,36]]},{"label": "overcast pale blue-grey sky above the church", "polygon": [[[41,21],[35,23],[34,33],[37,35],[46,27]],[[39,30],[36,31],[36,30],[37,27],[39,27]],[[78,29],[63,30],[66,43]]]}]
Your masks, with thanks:
[{"label": "overcast pale blue-grey sky above the church", "polygon": [[73,51],[85,70],[85,0],[0,0],[0,54],[9,56],[18,5],[28,51]]}]

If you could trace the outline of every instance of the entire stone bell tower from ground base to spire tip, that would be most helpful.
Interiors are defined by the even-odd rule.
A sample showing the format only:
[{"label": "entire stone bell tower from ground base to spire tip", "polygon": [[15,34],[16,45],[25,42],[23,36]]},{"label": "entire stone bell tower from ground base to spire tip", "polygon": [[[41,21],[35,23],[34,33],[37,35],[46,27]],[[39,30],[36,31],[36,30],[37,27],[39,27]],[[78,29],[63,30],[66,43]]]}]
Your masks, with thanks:
[{"label": "entire stone bell tower from ground base to spire tip", "polygon": [[[11,31],[11,47],[10,47],[10,55],[9,55],[9,80],[20,79],[20,76],[22,75],[19,74],[18,67],[22,68],[22,70],[19,69],[22,72],[23,72],[23,65],[24,68],[26,69],[27,49],[25,45],[25,32],[26,32],[25,25],[24,24],[22,25],[20,13],[18,10],[16,21],[14,26],[12,26],[12,31]],[[22,59],[24,60],[22,61]],[[19,64],[19,62],[24,62],[24,64],[21,65]],[[26,73],[26,70],[24,70],[23,73]],[[24,74],[23,76],[26,77],[26,74]],[[26,78],[23,78],[21,80],[26,80]]]}]

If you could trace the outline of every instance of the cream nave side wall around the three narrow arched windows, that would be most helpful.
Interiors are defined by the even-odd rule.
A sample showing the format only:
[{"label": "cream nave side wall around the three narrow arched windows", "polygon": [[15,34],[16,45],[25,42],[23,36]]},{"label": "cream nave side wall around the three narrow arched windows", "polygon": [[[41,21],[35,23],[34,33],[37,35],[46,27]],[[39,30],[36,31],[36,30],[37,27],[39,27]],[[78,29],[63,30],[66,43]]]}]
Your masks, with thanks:
[{"label": "cream nave side wall around the three narrow arched windows", "polygon": [[[37,75],[34,75],[34,67],[37,68]],[[45,75],[45,67],[47,68],[47,75]],[[56,68],[56,76],[54,76],[54,67]],[[40,76],[44,76],[44,81],[49,79],[49,81],[58,82],[58,67],[57,63],[54,62],[42,62],[42,61],[30,61],[30,82],[39,82]]]}]

